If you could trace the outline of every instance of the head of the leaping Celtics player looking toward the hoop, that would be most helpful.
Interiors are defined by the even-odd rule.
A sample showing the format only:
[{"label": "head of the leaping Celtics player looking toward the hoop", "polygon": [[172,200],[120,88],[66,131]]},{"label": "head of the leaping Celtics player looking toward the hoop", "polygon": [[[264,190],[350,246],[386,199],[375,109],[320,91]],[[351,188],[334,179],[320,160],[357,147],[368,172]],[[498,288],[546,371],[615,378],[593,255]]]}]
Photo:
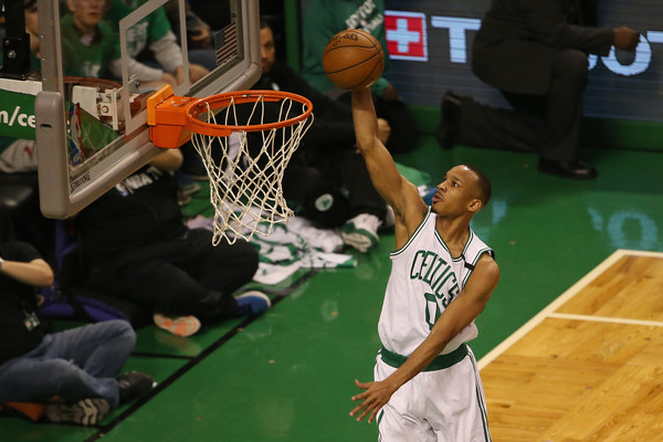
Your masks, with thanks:
[{"label": "head of the leaping Celtics player looking toward the hoop", "polygon": [[452,167],[436,186],[433,210],[438,214],[473,217],[491,199],[491,180],[473,165]]}]

